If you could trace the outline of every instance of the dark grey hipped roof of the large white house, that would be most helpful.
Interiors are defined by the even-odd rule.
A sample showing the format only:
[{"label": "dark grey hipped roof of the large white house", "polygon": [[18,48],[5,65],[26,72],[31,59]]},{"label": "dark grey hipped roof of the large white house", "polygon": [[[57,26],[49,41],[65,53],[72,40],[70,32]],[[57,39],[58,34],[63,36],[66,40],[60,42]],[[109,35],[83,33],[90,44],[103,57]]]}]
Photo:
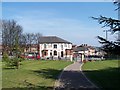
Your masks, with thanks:
[{"label": "dark grey hipped roof of the large white house", "polygon": [[72,44],[71,42],[66,41],[66,40],[64,40],[62,38],[56,37],[56,36],[43,36],[43,37],[40,37],[39,43],[40,44],[42,44],[42,43],[68,43],[68,44]]}]

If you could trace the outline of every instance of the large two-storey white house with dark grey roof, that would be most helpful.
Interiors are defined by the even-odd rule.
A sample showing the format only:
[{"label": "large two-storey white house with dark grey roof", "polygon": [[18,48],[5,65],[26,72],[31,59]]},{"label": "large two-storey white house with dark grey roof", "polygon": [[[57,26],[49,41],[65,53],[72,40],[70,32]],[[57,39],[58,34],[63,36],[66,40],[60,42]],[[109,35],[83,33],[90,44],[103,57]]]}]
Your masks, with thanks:
[{"label": "large two-storey white house with dark grey roof", "polygon": [[43,36],[39,39],[39,53],[43,59],[72,60],[72,43],[56,36]]}]

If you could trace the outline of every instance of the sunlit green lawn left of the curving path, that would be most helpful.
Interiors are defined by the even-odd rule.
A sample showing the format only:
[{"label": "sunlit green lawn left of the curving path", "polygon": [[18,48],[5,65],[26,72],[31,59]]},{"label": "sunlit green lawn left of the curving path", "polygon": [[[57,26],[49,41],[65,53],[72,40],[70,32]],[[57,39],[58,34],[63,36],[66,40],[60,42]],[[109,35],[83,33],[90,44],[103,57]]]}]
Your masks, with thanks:
[{"label": "sunlit green lawn left of the curving path", "polygon": [[3,65],[2,88],[52,90],[61,70],[71,63],[68,61],[29,60],[23,61],[19,69],[5,68]]}]

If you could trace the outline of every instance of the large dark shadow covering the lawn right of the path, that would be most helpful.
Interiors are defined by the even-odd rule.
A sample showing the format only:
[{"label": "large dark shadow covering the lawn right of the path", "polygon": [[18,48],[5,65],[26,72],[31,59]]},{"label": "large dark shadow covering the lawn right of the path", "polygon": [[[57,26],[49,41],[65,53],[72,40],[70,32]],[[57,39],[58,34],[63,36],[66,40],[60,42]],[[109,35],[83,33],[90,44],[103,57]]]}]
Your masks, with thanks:
[{"label": "large dark shadow covering the lawn right of the path", "polygon": [[101,90],[120,90],[120,67],[101,70],[84,70],[85,75]]}]

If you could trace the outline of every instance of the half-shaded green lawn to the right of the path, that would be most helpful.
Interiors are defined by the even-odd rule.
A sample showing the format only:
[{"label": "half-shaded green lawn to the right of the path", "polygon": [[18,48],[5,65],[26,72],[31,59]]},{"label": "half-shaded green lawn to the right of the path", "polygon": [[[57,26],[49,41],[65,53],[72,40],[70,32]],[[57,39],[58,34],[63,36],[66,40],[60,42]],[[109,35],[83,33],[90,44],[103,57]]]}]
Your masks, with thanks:
[{"label": "half-shaded green lawn to the right of the path", "polygon": [[120,60],[87,62],[82,70],[85,75],[103,90],[120,90]]}]

